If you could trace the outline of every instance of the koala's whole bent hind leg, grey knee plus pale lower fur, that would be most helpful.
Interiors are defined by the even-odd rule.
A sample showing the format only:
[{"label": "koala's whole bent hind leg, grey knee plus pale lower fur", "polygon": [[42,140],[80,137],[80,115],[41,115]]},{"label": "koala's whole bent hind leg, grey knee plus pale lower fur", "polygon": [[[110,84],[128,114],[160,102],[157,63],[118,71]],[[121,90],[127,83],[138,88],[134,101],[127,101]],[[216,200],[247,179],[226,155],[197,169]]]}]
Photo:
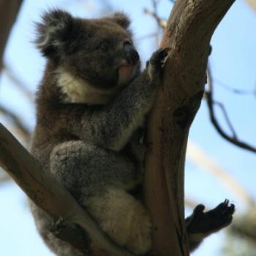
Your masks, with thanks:
[{"label": "koala's whole bent hind leg, grey knee plus pale lower fur", "polygon": [[151,220],[127,190],[138,183],[132,162],[116,151],[82,141],[61,143],[50,171],[117,244],[141,255],[151,248]]}]

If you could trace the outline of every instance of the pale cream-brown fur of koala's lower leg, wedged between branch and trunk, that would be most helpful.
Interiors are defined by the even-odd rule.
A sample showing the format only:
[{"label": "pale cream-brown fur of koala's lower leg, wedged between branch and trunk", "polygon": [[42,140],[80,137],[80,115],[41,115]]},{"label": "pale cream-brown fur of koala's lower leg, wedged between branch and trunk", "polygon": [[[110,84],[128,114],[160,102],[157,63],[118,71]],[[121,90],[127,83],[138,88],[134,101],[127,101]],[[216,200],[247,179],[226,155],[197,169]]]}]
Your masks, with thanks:
[{"label": "pale cream-brown fur of koala's lower leg, wedged between branch and trunk", "polygon": [[123,189],[109,188],[91,197],[87,207],[105,233],[136,255],[151,249],[151,219],[146,208]]}]

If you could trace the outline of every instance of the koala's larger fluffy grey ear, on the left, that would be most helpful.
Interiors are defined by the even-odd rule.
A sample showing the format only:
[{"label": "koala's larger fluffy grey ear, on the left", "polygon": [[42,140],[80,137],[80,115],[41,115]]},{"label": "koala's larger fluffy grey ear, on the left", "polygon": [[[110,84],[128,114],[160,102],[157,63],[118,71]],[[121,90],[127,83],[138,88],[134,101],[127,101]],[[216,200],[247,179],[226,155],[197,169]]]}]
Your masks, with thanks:
[{"label": "koala's larger fluffy grey ear, on the left", "polygon": [[44,56],[57,59],[65,46],[75,36],[75,19],[68,12],[52,10],[42,15],[42,23],[36,23],[37,48]]}]

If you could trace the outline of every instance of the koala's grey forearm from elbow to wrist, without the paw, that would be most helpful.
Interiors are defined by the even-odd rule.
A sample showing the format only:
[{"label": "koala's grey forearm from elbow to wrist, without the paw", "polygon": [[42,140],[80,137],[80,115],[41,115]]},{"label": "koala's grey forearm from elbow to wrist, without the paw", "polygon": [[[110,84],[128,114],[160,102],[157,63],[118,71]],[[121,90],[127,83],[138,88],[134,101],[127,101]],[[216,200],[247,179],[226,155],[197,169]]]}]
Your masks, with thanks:
[{"label": "koala's grey forearm from elbow to wrist, without the paw", "polygon": [[156,89],[157,81],[151,81],[148,70],[145,70],[113,102],[91,118],[94,143],[115,151],[123,148],[132,132],[143,125],[153,105]]}]

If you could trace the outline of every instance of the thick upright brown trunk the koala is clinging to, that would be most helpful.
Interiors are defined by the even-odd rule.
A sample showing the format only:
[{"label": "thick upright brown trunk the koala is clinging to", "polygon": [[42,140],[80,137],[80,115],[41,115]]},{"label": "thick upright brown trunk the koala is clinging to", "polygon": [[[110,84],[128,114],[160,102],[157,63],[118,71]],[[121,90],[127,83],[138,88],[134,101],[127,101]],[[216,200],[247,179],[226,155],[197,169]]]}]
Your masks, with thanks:
[{"label": "thick upright brown trunk the koala is clinging to", "polygon": [[[177,0],[161,46],[171,48],[148,121],[145,195],[153,219],[152,255],[189,255],[184,161],[189,127],[206,78],[209,42],[234,0]],[[163,239],[164,238],[164,239]]]}]

